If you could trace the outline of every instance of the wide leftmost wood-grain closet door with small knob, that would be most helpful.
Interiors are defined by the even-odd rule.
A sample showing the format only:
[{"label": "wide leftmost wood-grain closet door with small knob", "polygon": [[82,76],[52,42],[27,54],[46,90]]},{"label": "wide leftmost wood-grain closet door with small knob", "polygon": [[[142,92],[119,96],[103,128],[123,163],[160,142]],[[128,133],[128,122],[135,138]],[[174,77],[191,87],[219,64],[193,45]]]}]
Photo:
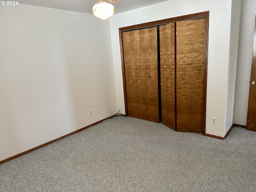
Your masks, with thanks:
[{"label": "wide leftmost wood-grain closet door with small knob", "polygon": [[122,33],[128,116],[159,122],[157,28]]}]

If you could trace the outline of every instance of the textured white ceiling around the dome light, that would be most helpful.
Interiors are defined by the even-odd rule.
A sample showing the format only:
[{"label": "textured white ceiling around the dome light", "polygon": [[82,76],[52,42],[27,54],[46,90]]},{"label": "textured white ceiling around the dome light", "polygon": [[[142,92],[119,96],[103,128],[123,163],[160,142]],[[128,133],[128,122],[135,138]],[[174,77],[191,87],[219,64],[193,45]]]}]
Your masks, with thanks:
[{"label": "textured white ceiling around the dome light", "polygon": [[[112,3],[115,7],[115,14],[144,6],[164,2],[167,0],[120,0]],[[92,14],[92,6],[97,0],[18,0],[18,3],[49,7],[62,10],[70,10]],[[110,2],[109,2],[110,3]]]}]

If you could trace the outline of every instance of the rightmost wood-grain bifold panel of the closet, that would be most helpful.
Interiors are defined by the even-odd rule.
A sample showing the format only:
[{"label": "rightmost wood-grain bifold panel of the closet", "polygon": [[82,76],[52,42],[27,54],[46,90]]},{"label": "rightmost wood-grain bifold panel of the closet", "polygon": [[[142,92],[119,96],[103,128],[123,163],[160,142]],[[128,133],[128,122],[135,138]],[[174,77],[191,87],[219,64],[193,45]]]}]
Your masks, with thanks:
[{"label": "rightmost wood-grain bifold panel of the closet", "polygon": [[202,132],[205,19],[176,22],[177,130]]}]

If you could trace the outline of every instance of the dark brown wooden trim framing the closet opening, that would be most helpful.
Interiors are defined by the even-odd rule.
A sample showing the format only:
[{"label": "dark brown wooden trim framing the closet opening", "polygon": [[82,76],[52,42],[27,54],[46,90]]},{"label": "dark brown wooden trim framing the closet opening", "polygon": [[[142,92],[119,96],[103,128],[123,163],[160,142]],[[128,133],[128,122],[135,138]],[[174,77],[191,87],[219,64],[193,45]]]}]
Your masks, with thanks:
[{"label": "dark brown wooden trim framing the closet opening", "polygon": [[142,28],[149,28],[152,26],[160,26],[172,22],[184,21],[184,20],[193,20],[205,18],[205,33],[204,33],[204,99],[203,99],[203,110],[202,110],[202,134],[205,135],[206,127],[206,88],[207,88],[207,67],[208,67],[208,36],[209,36],[209,11],[199,12],[184,16],[178,16],[173,18],[167,18],[163,20],[157,20],[142,24],[136,24],[132,26],[126,26],[119,28],[119,41],[120,41],[120,51],[121,51],[121,63],[122,63],[122,75],[123,75],[123,86],[124,86],[124,105],[125,105],[125,115],[128,116],[127,108],[127,93],[126,93],[126,78],[125,78],[125,67],[124,67],[124,49],[123,49],[123,37],[122,32],[130,30],[138,30]]}]

